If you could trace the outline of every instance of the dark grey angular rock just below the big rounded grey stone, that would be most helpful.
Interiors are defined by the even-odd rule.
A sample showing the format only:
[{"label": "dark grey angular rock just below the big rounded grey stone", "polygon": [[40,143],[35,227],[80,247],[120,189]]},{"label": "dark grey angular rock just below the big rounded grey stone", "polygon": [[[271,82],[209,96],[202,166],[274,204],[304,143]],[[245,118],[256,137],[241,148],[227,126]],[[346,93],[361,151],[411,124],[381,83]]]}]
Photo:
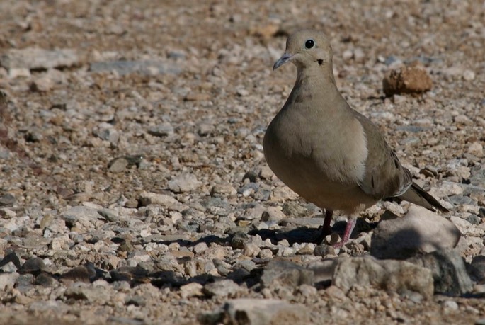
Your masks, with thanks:
[{"label": "dark grey angular rock just below the big rounded grey stone", "polygon": [[464,261],[455,249],[442,249],[415,256],[407,261],[429,269],[433,274],[436,293],[444,295],[463,295],[472,290]]}]

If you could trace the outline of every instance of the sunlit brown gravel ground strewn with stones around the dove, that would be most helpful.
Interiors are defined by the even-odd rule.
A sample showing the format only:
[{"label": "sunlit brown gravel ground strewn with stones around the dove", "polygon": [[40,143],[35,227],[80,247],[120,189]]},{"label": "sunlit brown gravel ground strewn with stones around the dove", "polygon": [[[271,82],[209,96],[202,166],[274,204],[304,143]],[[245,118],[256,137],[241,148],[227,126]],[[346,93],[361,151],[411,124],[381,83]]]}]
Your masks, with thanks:
[{"label": "sunlit brown gravel ground strewn with stones around the dove", "polygon": [[[300,2],[0,2],[1,324],[485,324],[484,1]],[[262,148],[302,27],[451,212],[314,244]]]}]

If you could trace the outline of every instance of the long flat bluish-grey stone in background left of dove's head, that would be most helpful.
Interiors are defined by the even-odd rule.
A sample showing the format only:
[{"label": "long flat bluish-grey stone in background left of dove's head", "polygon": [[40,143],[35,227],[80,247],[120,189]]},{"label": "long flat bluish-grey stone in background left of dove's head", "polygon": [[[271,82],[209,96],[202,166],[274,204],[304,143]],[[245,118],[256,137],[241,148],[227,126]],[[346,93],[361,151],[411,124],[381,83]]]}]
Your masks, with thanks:
[{"label": "long flat bluish-grey stone in background left of dove's head", "polygon": [[120,76],[125,74],[156,76],[157,74],[180,74],[182,72],[178,64],[155,60],[93,62],[90,70],[91,72],[115,72]]}]

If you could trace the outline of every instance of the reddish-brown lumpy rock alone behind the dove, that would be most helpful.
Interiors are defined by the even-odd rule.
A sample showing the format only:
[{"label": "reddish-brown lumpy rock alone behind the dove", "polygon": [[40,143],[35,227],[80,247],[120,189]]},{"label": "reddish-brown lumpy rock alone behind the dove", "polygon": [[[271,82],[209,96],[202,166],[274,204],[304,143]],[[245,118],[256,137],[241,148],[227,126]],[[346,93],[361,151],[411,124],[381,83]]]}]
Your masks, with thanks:
[{"label": "reddish-brown lumpy rock alone behind the dove", "polygon": [[389,72],[382,81],[386,96],[401,93],[424,93],[433,86],[430,76],[423,67],[403,67]]}]

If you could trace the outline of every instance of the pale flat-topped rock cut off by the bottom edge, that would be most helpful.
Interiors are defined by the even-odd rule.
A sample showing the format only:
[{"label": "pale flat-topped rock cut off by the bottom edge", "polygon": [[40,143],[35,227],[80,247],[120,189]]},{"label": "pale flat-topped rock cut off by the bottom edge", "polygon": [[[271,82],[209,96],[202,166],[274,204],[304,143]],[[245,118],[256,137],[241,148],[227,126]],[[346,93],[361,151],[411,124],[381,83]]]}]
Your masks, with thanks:
[{"label": "pale flat-topped rock cut off by the bottom edge", "polygon": [[215,312],[198,315],[203,325],[215,324],[309,324],[307,307],[284,300],[241,298],[229,300]]}]

